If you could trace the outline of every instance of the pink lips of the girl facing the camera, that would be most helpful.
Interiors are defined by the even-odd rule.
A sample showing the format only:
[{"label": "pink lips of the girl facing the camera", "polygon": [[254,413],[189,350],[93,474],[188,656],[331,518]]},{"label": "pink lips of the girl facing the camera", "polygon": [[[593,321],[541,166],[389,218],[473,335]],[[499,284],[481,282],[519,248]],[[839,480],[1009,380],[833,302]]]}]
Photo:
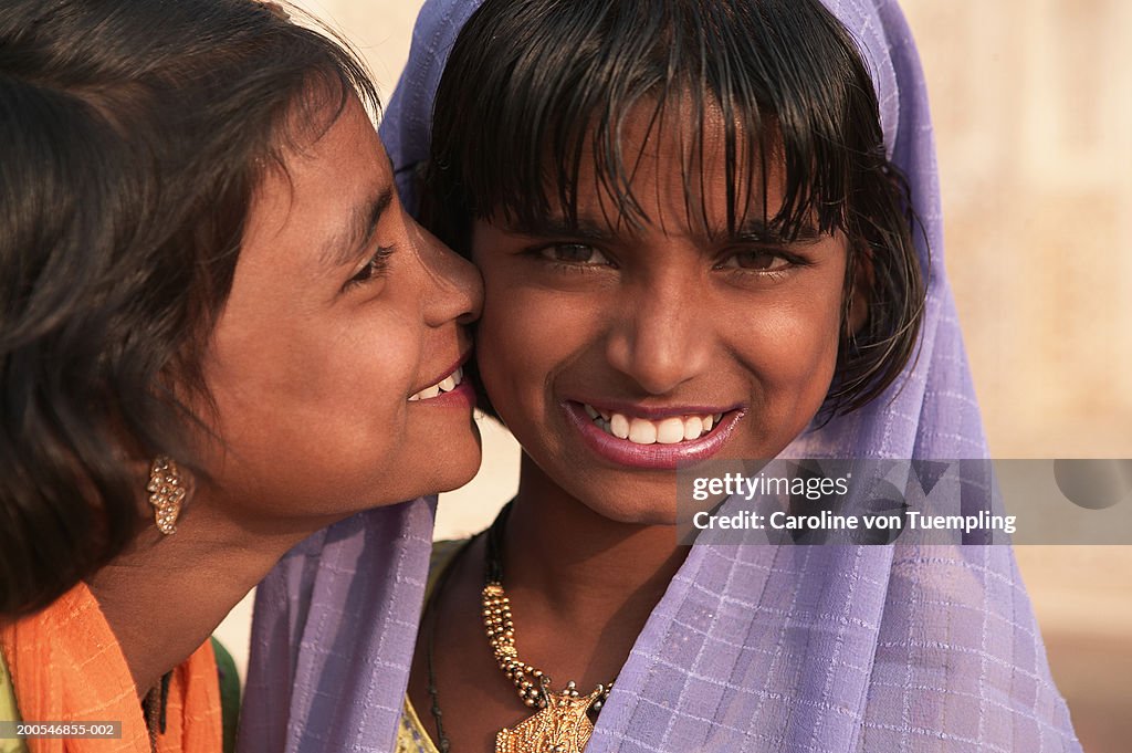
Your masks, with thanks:
[{"label": "pink lips of the girl facing the camera", "polygon": [[707,435],[698,439],[689,439],[674,445],[651,444],[638,445],[627,439],[618,439],[610,436],[594,426],[593,421],[585,413],[582,403],[567,400],[561,403],[566,418],[582,435],[585,444],[606,461],[627,465],[629,468],[641,468],[651,470],[676,470],[681,463],[696,463],[707,460],[727,443],[735,430],[736,425],[744,417],[741,409],[727,409],[721,411],[718,408],[702,407],[664,407],[644,409],[640,405],[628,405],[626,403],[588,403],[598,410],[609,412],[626,413],[650,420],[669,418],[672,416],[694,416],[706,413],[723,413],[720,422]]}]

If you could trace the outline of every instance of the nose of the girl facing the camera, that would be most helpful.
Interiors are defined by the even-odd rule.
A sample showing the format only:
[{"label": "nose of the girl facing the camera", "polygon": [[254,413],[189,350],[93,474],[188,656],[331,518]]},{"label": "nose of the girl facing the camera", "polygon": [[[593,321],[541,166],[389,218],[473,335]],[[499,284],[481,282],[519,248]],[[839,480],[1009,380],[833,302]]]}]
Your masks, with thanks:
[{"label": "nose of the girl facing the camera", "polygon": [[664,395],[702,374],[711,353],[711,322],[702,285],[679,272],[623,288],[607,358],[651,395]]}]

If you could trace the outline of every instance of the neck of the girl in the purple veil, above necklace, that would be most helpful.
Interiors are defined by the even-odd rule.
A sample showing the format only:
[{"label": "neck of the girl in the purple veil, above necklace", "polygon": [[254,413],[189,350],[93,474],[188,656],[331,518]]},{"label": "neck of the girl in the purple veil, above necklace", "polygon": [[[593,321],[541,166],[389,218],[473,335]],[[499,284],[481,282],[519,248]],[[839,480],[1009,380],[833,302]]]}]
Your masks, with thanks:
[{"label": "neck of the girl in the purple veil, above necklace", "polygon": [[504,536],[504,587],[521,643],[535,631],[543,645],[568,635],[569,652],[590,657],[565,668],[572,676],[616,674],[686,555],[674,527],[600,515],[524,455]]}]

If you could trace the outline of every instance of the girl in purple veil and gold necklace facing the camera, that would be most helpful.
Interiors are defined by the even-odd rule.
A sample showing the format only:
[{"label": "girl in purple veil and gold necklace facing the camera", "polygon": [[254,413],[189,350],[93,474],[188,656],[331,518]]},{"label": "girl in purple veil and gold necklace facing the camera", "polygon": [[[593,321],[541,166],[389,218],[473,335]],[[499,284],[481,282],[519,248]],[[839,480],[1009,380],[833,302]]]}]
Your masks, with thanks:
[{"label": "girl in purple veil and gold necklace facing the camera", "polygon": [[1009,547],[671,525],[678,464],[987,455],[894,2],[435,0],[381,135],[520,491],[419,634],[428,502],[295,549],[245,750],[1080,750]]}]

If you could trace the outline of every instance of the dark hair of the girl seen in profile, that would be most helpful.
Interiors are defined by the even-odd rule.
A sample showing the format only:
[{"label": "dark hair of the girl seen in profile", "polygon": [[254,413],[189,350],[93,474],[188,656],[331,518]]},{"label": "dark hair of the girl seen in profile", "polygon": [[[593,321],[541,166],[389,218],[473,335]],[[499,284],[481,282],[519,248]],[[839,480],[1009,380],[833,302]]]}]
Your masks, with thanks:
[{"label": "dark hair of the girl seen in profile", "polygon": [[376,111],[355,55],[278,3],[5,3],[0,619],[122,551],[148,459],[194,468],[256,187],[354,95]]}]

